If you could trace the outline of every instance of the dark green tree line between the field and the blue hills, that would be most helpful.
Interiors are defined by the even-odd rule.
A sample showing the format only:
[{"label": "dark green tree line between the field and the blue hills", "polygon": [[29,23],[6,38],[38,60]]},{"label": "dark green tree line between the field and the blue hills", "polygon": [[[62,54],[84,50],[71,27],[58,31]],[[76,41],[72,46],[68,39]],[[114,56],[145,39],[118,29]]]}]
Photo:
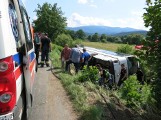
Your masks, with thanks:
[{"label": "dark green tree line between the field and the blue hills", "polygon": [[90,42],[113,42],[113,43],[124,43],[124,44],[131,44],[131,45],[140,45],[145,37],[141,34],[130,34],[124,36],[110,36],[106,34],[86,34],[83,30],[73,31],[67,30],[67,34],[69,34],[73,39],[81,39],[87,40]]}]

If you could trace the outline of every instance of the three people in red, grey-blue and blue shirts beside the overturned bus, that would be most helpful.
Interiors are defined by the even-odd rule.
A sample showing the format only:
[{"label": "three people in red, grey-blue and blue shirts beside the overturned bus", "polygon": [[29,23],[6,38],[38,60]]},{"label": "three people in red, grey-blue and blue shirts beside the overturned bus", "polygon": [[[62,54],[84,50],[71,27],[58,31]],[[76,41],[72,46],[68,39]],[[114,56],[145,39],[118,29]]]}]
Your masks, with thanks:
[{"label": "three people in red, grey-blue and blue shirts beside the overturned bus", "polygon": [[78,48],[78,45],[75,45],[73,48],[69,48],[67,44],[65,44],[60,59],[62,61],[62,68],[65,71],[70,71],[70,64],[74,64],[75,72],[78,73],[80,69],[84,67],[84,65],[88,65],[88,62],[91,58],[91,55],[83,48],[83,53]]}]

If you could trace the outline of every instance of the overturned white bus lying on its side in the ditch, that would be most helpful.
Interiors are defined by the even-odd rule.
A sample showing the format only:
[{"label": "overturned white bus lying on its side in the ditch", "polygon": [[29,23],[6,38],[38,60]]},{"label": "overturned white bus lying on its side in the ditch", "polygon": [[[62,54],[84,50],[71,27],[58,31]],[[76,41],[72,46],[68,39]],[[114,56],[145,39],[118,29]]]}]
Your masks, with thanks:
[{"label": "overturned white bus lying on its side in the ditch", "polygon": [[84,47],[90,54],[97,54],[93,56],[90,61],[91,65],[100,64],[103,68],[109,69],[109,72],[114,76],[114,82],[117,84],[120,79],[121,64],[125,65],[127,74],[132,75],[136,73],[138,61],[136,56],[116,53],[108,50],[96,49],[92,47]]}]

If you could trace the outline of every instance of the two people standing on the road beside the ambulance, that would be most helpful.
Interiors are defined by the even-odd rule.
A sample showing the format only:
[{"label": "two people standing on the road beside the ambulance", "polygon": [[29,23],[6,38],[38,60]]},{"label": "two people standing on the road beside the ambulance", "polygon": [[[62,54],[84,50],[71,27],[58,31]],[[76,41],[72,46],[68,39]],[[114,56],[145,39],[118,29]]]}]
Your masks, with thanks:
[{"label": "two people standing on the road beside the ambulance", "polygon": [[[49,52],[51,51],[51,40],[47,33],[35,33],[34,36],[35,54],[37,64],[49,67]],[[39,52],[41,52],[41,62],[39,63]]]}]

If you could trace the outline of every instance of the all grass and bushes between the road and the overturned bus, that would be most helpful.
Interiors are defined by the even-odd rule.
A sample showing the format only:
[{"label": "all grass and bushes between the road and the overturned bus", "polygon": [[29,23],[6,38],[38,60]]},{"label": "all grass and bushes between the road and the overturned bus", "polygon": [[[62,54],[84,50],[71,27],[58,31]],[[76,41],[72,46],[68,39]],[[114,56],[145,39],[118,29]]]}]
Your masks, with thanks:
[{"label": "all grass and bushes between the road and the overturned bus", "polygon": [[[82,72],[71,76],[60,67],[61,50],[62,47],[53,45],[51,58],[53,58],[54,73],[60,78],[64,88],[69,93],[80,119],[105,120],[115,112],[117,112],[117,115],[121,115],[122,118],[129,119],[126,118],[126,112],[124,111],[127,110],[126,107],[131,109],[129,111],[130,116],[135,119],[138,116],[140,116],[138,119],[152,117],[160,119],[157,115],[158,110],[154,105],[155,100],[152,97],[152,87],[150,85],[140,85],[134,75],[125,81],[121,89],[111,91],[98,85],[98,70],[95,67],[84,67]],[[117,109],[120,109],[120,111]]]}]

